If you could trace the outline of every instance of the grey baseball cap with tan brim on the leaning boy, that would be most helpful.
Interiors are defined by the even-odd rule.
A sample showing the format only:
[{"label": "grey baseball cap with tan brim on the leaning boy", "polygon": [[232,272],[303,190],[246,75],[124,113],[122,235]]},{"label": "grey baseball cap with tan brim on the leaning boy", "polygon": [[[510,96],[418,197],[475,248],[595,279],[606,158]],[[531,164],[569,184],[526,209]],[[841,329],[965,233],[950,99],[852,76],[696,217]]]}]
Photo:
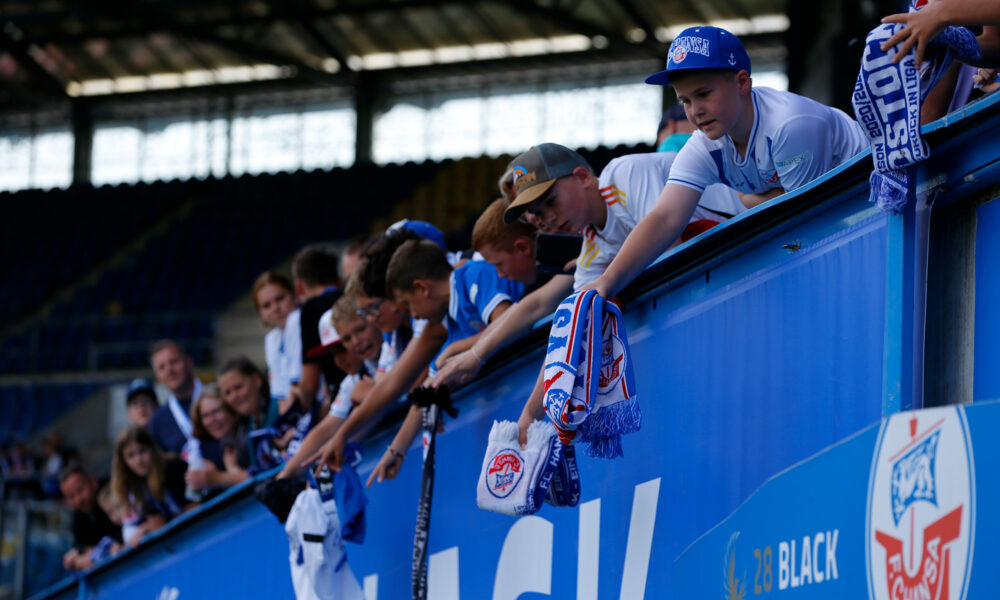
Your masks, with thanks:
[{"label": "grey baseball cap with tan brim on the leaning boy", "polygon": [[538,144],[511,161],[514,191],[517,195],[504,211],[505,223],[513,223],[525,208],[549,191],[556,179],[565,177],[577,167],[590,170],[590,165],[575,150],[559,144]]}]

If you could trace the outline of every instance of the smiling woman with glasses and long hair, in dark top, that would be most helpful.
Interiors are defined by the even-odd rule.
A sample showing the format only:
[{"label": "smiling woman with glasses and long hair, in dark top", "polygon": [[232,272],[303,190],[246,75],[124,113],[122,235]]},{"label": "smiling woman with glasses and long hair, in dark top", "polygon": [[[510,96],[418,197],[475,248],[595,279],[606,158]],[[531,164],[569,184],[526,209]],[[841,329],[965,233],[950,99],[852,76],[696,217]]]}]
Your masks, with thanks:
[{"label": "smiling woman with glasses and long hair, in dark top", "polygon": [[202,468],[188,467],[187,485],[218,490],[246,480],[250,466],[246,423],[222,399],[218,385],[205,386],[191,406],[191,422],[201,446]]}]

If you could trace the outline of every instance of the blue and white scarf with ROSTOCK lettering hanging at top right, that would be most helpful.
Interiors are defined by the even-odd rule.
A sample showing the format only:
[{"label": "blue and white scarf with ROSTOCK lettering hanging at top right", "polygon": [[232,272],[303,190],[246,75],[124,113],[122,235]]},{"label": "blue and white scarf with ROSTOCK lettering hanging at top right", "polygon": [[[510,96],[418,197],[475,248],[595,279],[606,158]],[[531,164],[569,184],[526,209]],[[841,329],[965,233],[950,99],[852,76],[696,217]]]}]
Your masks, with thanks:
[{"label": "blue and white scarf with ROSTOCK lettering hanging at top right", "polygon": [[[914,3],[910,12],[923,4]],[[868,34],[852,99],[854,114],[872,146],[875,171],[871,176],[870,201],[890,214],[898,214],[906,206],[907,167],[930,155],[927,143],[920,137],[921,103],[952,60],[975,60],[982,56],[971,31],[948,27],[930,43],[919,69],[916,49],[894,64],[892,57],[899,46],[887,51],[881,46],[902,28],[899,23],[886,23]]]}]

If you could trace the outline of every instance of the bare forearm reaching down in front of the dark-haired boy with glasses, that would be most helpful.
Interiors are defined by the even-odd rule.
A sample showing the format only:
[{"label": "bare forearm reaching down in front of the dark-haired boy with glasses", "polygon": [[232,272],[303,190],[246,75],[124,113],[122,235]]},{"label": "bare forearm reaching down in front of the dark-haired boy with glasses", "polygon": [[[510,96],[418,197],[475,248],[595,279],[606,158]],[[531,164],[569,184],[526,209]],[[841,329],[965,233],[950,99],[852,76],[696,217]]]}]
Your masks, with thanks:
[{"label": "bare forearm reaching down in front of the dark-haired boy with glasses", "polygon": [[376,381],[375,387],[368,393],[364,401],[351,411],[350,416],[341,425],[338,434],[347,439],[347,436],[354,430],[381,413],[393,400],[409,391],[410,386],[417,381],[427,365],[434,360],[434,355],[441,349],[447,337],[448,331],[442,325],[430,324],[424,328],[424,333],[420,337],[410,340],[406,350],[399,357],[399,361],[393,365],[385,377]]}]

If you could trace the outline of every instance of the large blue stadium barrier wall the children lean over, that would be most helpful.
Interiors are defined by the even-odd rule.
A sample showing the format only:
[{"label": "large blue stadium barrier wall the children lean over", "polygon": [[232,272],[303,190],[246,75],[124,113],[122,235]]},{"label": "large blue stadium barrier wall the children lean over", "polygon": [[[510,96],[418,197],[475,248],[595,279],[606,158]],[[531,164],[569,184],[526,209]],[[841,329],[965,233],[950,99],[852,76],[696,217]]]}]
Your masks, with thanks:
[{"label": "large blue stadium barrier wall the children lean over", "polygon": [[[915,193],[933,192],[937,206],[979,202],[1000,181],[1000,138],[978,133],[996,129],[995,104],[928,128],[934,153],[915,171]],[[515,519],[475,504],[490,426],[520,413],[542,335],[463,388],[460,416],[438,437],[430,597],[670,598],[674,559],[767,478],[922,406],[914,340],[923,340],[920,231],[931,211],[911,202],[901,216],[879,212],[868,202],[870,168],[861,155],[699,236],[623,294],[642,430],[626,436],[624,458],[580,457],[579,507]],[[996,273],[980,269],[977,285],[1000,285]],[[976,338],[996,332],[977,325]],[[977,368],[977,387],[992,385],[978,377]],[[366,446],[362,473],[387,441]],[[369,600],[409,597],[419,464],[411,448],[400,477],[371,489],[367,541],[349,546]],[[291,598],[287,554],[277,521],[242,488],[39,597]],[[707,589],[722,594],[721,584]]]}]

